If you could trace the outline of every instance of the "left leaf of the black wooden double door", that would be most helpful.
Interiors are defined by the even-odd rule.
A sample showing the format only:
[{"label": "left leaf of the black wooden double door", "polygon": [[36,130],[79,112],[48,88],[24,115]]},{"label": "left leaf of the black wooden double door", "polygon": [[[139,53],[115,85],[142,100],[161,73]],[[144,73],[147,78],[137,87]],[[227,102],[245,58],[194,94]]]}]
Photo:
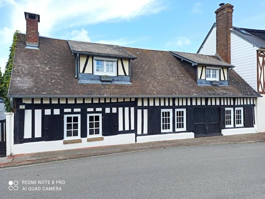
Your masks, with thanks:
[{"label": "left leaf of the black wooden double door", "polygon": [[[194,108],[194,135],[206,134],[205,108]],[[188,118],[189,119],[189,118]]]}]

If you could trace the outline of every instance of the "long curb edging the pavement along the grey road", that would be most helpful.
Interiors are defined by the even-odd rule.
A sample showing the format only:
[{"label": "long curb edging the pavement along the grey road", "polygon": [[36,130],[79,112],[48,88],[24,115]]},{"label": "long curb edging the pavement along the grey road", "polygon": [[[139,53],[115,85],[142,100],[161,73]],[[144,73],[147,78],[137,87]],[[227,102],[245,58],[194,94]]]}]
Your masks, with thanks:
[{"label": "long curb edging the pavement along the grey road", "polygon": [[0,169],[25,166],[25,165],[48,163],[48,162],[56,162],[56,161],[62,161],[62,160],[105,156],[105,155],[111,155],[111,154],[148,151],[148,150],[155,150],[155,149],[168,149],[168,148],[176,148],[176,147],[203,146],[203,145],[214,145],[214,144],[240,144],[240,143],[264,143],[264,142],[265,142],[265,139],[262,139],[262,140],[259,139],[259,140],[241,140],[241,141],[235,141],[235,142],[216,142],[216,143],[206,143],[206,144],[186,144],[186,145],[176,144],[176,145],[170,145],[170,146],[165,145],[165,147],[153,146],[150,148],[142,148],[142,149],[141,148],[139,148],[139,149],[125,149],[124,148],[123,150],[117,150],[117,151],[112,151],[112,152],[86,153],[86,154],[78,154],[78,155],[69,155],[69,156],[60,156],[60,157],[51,157],[51,158],[43,158],[43,159],[32,159],[32,160],[2,163],[2,164],[0,164]]}]

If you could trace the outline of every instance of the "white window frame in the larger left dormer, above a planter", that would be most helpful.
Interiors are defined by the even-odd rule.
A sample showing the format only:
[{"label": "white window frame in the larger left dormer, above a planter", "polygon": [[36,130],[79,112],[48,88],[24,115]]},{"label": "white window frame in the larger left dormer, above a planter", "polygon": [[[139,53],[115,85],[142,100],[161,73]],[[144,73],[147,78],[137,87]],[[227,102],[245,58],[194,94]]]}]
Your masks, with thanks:
[{"label": "white window frame in the larger left dormer, above a planter", "polygon": [[[103,61],[104,64],[104,71],[106,71],[106,61],[113,61],[113,73],[111,72],[100,72],[97,71],[97,60],[98,61]],[[118,59],[114,58],[106,58],[106,57],[94,57],[93,59],[93,70],[94,70],[94,75],[109,75],[109,76],[117,76],[117,61]]]}]

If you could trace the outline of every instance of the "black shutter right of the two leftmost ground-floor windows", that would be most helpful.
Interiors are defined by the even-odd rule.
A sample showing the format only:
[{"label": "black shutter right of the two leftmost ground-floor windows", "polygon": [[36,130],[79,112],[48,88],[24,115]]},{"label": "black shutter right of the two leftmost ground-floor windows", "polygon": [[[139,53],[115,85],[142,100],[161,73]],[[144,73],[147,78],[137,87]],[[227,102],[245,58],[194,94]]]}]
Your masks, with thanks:
[{"label": "black shutter right of the two leftmost ground-floor windows", "polygon": [[117,135],[119,132],[118,113],[103,113],[103,135]]}]

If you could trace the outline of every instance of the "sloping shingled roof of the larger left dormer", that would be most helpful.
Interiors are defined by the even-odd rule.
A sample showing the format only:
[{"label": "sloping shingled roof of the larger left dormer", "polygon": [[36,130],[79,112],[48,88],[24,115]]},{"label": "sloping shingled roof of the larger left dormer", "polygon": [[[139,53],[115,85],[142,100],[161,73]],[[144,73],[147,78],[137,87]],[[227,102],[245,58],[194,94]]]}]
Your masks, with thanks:
[{"label": "sloping shingled roof of the larger left dormer", "polygon": [[68,40],[73,52],[87,53],[97,56],[121,57],[136,59],[137,57],[118,45],[90,43],[83,41]]}]

